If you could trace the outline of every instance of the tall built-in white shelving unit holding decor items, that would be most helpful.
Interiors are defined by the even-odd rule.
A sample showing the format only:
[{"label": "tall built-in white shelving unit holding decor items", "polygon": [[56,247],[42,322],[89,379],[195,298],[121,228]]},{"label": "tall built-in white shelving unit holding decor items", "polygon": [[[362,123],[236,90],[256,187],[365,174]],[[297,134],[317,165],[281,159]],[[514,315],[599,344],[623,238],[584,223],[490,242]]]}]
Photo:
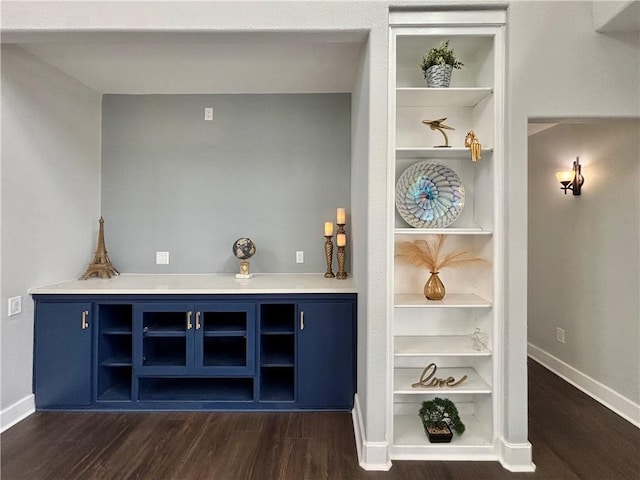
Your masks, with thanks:
[{"label": "tall built-in white shelving unit holding decor items", "polygon": [[[503,298],[505,245],[503,228],[504,58],[506,12],[412,11],[390,14],[389,68],[389,219],[388,264],[391,381],[388,424],[391,459],[498,459],[502,435]],[[449,40],[464,63],[454,70],[449,88],[427,88],[419,64],[422,56]],[[451,148],[438,148],[440,132],[424,119],[446,117]],[[471,161],[464,138],[474,130],[482,159]],[[446,228],[412,228],[395,208],[395,187],[404,170],[424,160],[453,169],[465,187],[465,206]],[[447,294],[442,301],[423,294],[428,272],[395,259],[403,241],[447,235],[447,248],[472,250],[486,259],[479,266],[444,269]],[[487,344],[472,346],[480,328]],[[436,377],[467,379],[455,387],[413,386],[430,363]],[[451,443],[429,442],[418,417],[422,401],[451,399],[466,425]]]}]

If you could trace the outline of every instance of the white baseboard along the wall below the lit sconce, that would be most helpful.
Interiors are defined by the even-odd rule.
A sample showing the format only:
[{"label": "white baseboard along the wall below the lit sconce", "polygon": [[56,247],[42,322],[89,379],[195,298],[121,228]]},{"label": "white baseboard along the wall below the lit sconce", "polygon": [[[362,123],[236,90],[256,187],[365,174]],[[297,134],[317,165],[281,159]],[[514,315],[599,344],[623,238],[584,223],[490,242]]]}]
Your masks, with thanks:
[{"label": "white baseboard along the wall below the lit sconce", "polygon": [[531,343],[528,344],[528,354],[533,360],[578,390],[583,391],[612,412],[640,428],[640,405],[637,403]]}]

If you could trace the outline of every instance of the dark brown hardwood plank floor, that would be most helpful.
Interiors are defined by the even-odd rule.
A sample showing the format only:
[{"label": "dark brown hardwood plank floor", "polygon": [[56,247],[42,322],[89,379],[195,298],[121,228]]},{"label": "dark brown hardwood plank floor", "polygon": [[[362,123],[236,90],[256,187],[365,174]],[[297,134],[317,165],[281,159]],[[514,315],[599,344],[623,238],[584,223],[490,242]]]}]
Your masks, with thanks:
[{"label": "dark brown hardwood plank floor", "polygon": [[2,434],[2,480],[638,480],[640,429],[529,362],[535,473],[497,462],[357,463],[348,413],[36,413]]}]

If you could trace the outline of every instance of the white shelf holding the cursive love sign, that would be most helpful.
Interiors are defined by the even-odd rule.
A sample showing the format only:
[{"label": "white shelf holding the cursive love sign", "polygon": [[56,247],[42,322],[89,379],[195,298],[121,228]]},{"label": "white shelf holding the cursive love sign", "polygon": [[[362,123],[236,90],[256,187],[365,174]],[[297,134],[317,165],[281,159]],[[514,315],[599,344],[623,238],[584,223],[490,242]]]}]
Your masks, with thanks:
[{"label": "white shelf holding the cursive love sign", "polygon": [[420,380],[421,368],[395,368],[393,370],[393,393],[402,395],[475,395],[490,394],[491,386],[478,375],[473,368],[438,368],[435,376],[438,378],[453,377],[456,381],[464,375],[468,378],[456,387],[417,387],[411,384]]}]

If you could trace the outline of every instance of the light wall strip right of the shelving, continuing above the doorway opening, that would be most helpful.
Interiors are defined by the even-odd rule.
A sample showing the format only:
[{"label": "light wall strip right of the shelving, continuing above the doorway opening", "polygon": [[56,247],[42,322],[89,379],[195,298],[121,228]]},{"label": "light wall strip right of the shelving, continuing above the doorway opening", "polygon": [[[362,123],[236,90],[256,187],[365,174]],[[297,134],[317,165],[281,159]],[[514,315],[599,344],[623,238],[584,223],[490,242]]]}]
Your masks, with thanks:
[{"label": "light wall strip right of the shelving, continuing above the doorway opening", "polygon": [[508,27],[507,438],[527,425],[527,122],[544,117],[640,116],[638,35],[592,28],[590,2],[513,2]]}]

